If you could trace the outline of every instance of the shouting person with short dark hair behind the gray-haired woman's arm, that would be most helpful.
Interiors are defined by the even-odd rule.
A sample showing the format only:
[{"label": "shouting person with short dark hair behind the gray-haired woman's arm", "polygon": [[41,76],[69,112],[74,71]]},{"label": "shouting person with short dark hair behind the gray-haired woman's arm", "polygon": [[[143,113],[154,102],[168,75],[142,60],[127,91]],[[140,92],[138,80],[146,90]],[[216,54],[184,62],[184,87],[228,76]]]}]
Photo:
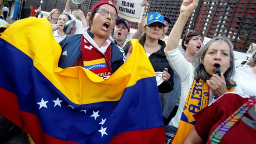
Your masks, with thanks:
[{"label": "shouting person with short dark hair behind the gray-haired woman's arm", "polygon": [[[184,58],[188,62],[190,62],[194,58],[195,54],[199,50],[198,48],[200,48],[202,44],[203,44],[202,32],[190,30],[182,38],[181,46],[184,51],[182,51],[181,54],[184,56]],[[180,84],[180,78],[175,72],[173,76],[173,81],[174,81],[174,86],[171,92],[164,93],[164,94],[160,93],[160,101],[162,106],[164,125],[168,125],[171,119],[176,115],[178,106],[180,104],[181,84]]]}]

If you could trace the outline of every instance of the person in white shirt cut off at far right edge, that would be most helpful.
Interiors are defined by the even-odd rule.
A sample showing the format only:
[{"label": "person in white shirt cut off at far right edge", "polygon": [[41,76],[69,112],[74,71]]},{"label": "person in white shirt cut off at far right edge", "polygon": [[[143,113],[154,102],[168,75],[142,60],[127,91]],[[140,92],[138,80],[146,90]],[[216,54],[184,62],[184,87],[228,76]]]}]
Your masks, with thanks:
[{"label": "person in white shirt cut off at far right edge", "polygon": [[[256,47],[256,44],[251,44],[250,47]],[[238,82],[245,95],[256,94],[256,49],[252,52],[251,61],[243,65],[243,67],[237,67],[234,76],[234,81]]]}]

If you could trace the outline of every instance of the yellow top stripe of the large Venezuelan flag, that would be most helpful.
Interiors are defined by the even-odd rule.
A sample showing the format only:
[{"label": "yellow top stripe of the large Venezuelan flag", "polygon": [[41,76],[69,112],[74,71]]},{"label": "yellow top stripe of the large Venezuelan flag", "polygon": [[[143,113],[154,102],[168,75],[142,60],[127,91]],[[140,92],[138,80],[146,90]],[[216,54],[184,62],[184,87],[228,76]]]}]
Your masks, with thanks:
[{"label": "yellow top stripe of the large Venezuelan flag", "polygon": [[135,85],[140,79],[155,76],[143,47],[135,39],[131,40],[133,51],[130,58],[104,80],[83,67],[58,67],[61,47],[45,18],[18,20],[4,31],[1,38],[28,55],[35,68],[75,104],[118,101],[125,88]]}]

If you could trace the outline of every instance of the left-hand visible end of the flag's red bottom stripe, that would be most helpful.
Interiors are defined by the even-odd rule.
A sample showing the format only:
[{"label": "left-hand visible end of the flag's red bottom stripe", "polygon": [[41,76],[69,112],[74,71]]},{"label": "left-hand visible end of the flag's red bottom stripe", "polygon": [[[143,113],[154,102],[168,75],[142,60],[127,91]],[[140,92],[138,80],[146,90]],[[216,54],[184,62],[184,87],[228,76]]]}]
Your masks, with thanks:
[{"label": "left-hand visible end of the flag's red bottom stripe", "polygon": [[0,114],[20,127],[23,132],[29,132],[36,144],[78,144],[76,142],[56,139],[44,133],[37,116],[32,113],[20,111],[16,95],[2,88],[0,88]]}]

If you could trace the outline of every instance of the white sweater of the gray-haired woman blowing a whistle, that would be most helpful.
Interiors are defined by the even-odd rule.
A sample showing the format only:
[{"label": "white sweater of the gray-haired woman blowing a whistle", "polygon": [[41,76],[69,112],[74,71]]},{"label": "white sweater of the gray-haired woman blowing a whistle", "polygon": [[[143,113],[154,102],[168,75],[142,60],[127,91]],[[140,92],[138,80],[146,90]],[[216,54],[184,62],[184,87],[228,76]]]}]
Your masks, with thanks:
[{"label": "white sweater of the gray-haired woman blowing a whistle", "polygon": [[[174,70],[175,73],[178,74],[180,77],[180,83],[181,83],[181,95],[180,95],[180,104],[178,106],[178,110],[174,118],[172,118],[169,125],[172,125],[174,127],[179,126],[181,114],[183,112],[183,107],[185,105],[185,101],[187,98],[187,94],[189,92],[189,89],[191,85],[194,82],[194,70],[195,67],[188,62],[184,56],[178,51],[178,49],[171,50],[169,52],[165,51],[166,58],[168,59],[169,64],[171,65],[172,70]],[[236,87],[234,87],[234,92],[243,94],[242,88],[240,85],[237,84]],[[211,104],[213,101],[213,94],[210,91],[210,97],[209,97],[209,104]]]}]

